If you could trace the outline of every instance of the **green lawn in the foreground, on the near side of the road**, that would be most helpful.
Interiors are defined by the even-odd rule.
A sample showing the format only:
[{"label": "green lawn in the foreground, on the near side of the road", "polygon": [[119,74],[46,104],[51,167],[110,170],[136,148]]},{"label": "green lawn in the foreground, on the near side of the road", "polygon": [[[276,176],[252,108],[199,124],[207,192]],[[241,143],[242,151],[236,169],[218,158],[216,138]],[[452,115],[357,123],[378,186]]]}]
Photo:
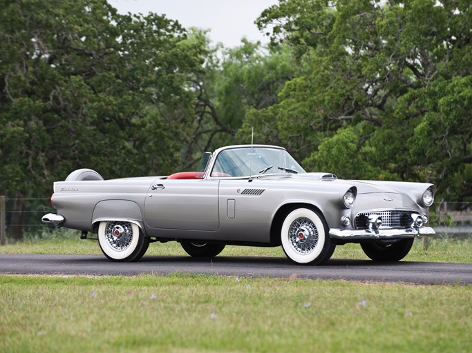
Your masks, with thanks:
[{"label": "green lawn in the foreground, on the near side of the road", "polygon": [[0,276],[0,352],[471,352],[472,287]]}]

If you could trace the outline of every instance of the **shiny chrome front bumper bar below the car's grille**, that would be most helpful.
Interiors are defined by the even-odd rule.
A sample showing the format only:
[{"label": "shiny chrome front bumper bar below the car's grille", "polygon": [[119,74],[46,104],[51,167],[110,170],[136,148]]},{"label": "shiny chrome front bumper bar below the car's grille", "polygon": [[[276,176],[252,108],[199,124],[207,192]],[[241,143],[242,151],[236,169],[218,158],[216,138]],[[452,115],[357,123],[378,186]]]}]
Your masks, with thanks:
[{"label": "shiny chrome front bumper bar below the car's grille", "polygon": [[362,239],[399,239],[413,238],[415,236],[433,235],[436,232],[431,227],[405,228],[405,229],[379,229],[376,232],[368,229],[363,230],[343,230],[338,228],[330,229],[332,239],[362,240]]}]

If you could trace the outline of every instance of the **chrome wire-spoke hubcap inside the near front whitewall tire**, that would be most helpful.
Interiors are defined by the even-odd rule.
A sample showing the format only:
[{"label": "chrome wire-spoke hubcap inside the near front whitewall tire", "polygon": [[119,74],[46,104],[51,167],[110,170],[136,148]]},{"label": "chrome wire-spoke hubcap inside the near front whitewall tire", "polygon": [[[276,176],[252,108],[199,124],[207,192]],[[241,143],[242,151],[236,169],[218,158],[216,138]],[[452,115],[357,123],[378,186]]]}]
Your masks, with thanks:
[{"label": "chrome wire-spoke hubcap inside the near front whitewall tire", "polygon": [[317,226],[310,219],[301,217],[290,225],[288,237],[296,253],[309,254],[318,244]]}]

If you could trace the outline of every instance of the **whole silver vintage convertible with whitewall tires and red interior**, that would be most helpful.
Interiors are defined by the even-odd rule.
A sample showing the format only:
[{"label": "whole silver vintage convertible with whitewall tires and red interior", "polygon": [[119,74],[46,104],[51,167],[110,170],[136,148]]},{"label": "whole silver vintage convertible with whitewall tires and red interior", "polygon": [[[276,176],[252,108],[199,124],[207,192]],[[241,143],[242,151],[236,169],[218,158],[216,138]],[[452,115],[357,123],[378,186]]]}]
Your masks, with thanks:
[{"label": "whole silver vintage convertible with whitewall tires and red interior", "polygon": [[322,264],[336,245],[359,243],[370,259],[399,261],[426,226],[429,183],[340,180],[308,173],[284,149],[234,145],[205,152],[196,172],[104,180],[90,169],[54,183],[57,213],[44,223],[98,234],[104,255],[137,261],[153,241],[191,256],[225,245],[282,246],[299,264]]}]

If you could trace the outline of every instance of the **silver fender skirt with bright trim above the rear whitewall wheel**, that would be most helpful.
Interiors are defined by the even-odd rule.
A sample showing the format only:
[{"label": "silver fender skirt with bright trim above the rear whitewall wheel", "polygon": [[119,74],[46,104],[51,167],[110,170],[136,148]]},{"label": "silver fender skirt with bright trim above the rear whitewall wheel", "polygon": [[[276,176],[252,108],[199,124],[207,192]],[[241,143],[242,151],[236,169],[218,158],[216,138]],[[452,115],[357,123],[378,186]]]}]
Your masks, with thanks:
[{"label": "silver fender skirt with bright trim above the rear whitewall wheel", "polygon": [[129,200],[105,200],[95,205],[92,216],[92,229],[102,221],[125,221],[138,225],[144,232],[142,213],[137,203]]}]

